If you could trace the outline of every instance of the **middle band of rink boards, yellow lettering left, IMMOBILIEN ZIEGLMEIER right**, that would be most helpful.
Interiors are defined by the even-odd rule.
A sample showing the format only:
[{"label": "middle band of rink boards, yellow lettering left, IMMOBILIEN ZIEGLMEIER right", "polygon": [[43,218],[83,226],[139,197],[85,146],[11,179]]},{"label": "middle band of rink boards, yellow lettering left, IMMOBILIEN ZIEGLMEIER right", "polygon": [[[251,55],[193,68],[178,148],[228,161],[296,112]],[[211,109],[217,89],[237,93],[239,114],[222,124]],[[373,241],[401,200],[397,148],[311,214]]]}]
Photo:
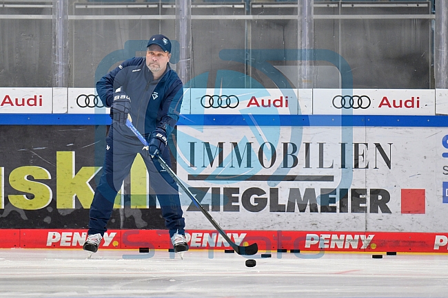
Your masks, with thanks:
[{"label": "middle band of rink boards, yellow lettering left, IMMOBILIEN ZIEGLMEIER right", "polygon": [[[3,127],[14,139],[1,143],[14,156],[0,164],[3,228],[87,228],[104,152],[95,134],[81,125]],[[440,233],[448,225],[445,127],[179,125],[176,143],[176,173],[225,229]],[[147,181],[137,158],[108,228],[164,228]],[[187,228],[203,229],[183,191],[181,204]]]}]

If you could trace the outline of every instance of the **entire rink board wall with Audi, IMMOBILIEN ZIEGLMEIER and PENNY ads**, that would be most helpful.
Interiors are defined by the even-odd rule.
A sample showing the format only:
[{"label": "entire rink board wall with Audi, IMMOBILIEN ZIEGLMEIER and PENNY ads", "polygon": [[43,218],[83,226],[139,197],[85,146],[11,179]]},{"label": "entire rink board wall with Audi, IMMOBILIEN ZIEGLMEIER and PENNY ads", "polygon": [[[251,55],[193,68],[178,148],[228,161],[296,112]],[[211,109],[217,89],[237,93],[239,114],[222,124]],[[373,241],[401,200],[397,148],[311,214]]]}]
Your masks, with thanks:
[{"label": "entire rink board wall with Audi, IMMOBILIEN ZIEGLMEIER and PENNY ads", "polygon": [[[6,91],[0,247],[79,248],[108,111],[92,88],[53,90],[52,110],[45,90]],[[447,252],[448,122],[434,114],[434,96],[446,96],[354,89],[350,96],[371,100],[355,110],[337,107],[338,89],[246,91],[186,90],[172,136],[176,173],[232,240],[266,251]],[[208,107],[210,96],[218,105],[236,96],[238,107]],[[137,158],[104,248],[170,247],[147,182]],[[229,248],[203,231],[209,225],[183,191],[181,203],[192,249]]]}]

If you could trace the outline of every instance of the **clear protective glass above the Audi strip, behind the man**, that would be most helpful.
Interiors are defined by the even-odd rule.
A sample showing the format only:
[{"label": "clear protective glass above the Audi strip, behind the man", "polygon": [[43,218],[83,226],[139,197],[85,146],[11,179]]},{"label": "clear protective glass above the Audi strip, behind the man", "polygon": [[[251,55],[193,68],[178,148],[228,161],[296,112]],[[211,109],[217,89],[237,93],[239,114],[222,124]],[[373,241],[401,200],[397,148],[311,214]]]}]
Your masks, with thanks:
[{"label": "clear protective glass above the Audi strip, behind the man", "polygon": [[[434,87],[433,1],[185,3],[186,14],[174,0],[3,1],[0,86],[93,87],[120,61],[143,55],[152,34],[179,39],[182,14],[191,38],[177,45],[188,53],[191,87],[301,87],[301,67],[312,87],[340,87],[337,67],[303,61],[303,45],[345,59],[355,88]],[[173,55],[175,69],[178,61]]]}]

